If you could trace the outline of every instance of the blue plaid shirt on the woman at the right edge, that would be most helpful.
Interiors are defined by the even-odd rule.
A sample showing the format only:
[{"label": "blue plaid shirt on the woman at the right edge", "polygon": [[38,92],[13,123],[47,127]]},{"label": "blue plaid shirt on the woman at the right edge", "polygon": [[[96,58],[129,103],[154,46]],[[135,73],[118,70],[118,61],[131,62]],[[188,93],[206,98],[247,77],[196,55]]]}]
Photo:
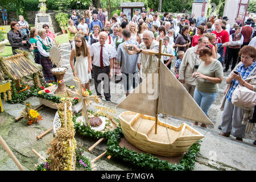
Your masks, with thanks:
[{"label": "blue plaid shirt on the woman at the right edge", "polygon": [[[238,67],[236,70],[238,71],[238,73],[241,74],[243,80],[245,80],[251,73],[251,71],[253,71],[254,67],[256,67],[256,63],[254,62],[253,64],[250,65],[250,67],[245,68],[245,66],[243,64],[240,65],[240,67]],[[251,76],[253,76],[254,73],[251,73]],[[226,95],[226,99],[228,101],[231,101],[232,98],[232,94],[234,92],[234,90],[237,88],[237,85],[239,84],[239,81],[237,80],[232,80],[232,85],[229,89],[228,94]]]}]

